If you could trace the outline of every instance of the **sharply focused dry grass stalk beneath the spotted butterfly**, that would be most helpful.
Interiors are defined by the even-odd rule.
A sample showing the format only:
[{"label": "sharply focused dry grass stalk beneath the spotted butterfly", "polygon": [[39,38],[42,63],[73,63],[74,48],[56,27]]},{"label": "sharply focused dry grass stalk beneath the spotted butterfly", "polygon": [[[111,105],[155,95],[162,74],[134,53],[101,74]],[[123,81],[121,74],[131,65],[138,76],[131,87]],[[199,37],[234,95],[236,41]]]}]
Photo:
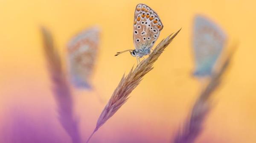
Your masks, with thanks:
[{"label": "sharply focused dry grass stalk beneath the spotted butterfly", "polygon": [[[180,29],[181,30],[181,29]],[[108,101],[108,104],[103,109],[101,115],[96,124],[96,128],[94,129],[93,133],[87,140],[89,142],[92,135],[101,127],[109,118],[111,118],[116,111],[128,100],[128,96],[130,93],[140,84],[143,76],[148,73],[150,70],[153,69],[152,65],[161,55],[163,50],[172,42],[175,36],[180,32],[177,31],[173,36],[172,34],[168,36],[166,39],[163,39],[154,51],[148,56],[147,59],[140,62],[137,67],[128,73],[127,76],[123,76],[120,83],[116,87],[116,90],[113,92],[113,95]]]}]

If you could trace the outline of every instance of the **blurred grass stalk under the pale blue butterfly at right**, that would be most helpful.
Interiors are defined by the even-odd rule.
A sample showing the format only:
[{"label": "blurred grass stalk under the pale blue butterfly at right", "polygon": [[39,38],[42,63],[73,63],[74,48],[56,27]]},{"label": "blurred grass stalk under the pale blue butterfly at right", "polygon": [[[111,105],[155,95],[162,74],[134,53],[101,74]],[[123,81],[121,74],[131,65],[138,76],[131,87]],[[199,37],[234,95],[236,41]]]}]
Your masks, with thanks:
[{"label": "blurred grass stalk under the pale blue butterfly at right", "polygon": [[212,103],[210,97],[221,83],[222,75],[227,70],[227,67],[230,64],[230,60],[235,51],[234,48],[224,60],[220,70],[212,75],[211,80],[204,88],[204,90],[202,90],[194,104],[194,107],[192,108],[190,118],[185,122],[183,130],[177,133],[173,143],[194,143],[196,137],[200,135],[204,119],[211,109]]}]

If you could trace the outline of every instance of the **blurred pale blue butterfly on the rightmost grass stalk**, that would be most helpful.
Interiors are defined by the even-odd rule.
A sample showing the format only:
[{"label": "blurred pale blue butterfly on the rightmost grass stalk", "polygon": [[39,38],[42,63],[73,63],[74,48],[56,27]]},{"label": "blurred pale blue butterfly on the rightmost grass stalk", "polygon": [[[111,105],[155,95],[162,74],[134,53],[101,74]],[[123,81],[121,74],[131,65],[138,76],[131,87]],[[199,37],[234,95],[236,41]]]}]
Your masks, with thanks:
[{"label": "blurred pale blue butterfly on the rightmost grass stalk", "polygon": [[194,76],[211,76],[226,39],[224,31],[214,22],[200,15],[195,16],[192,39],[196,65]]}]

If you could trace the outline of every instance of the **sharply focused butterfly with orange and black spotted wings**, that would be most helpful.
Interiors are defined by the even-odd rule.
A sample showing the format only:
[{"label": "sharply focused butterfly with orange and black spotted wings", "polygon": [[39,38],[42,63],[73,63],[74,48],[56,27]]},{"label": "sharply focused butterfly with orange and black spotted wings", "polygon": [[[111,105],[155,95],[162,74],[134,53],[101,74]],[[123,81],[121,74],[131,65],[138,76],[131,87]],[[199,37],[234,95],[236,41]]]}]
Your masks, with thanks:
[{"label": "sharply focused butterfly with orange and black spotted wings", "polygon": [[150,54],[151,48],[154,46],[163,24],[157,13],[145,4],[138,4],[134,13],[133,40],[134,50],[124,50],[117,52],[115,56],[129,51],[132,56],[142,58]]}]

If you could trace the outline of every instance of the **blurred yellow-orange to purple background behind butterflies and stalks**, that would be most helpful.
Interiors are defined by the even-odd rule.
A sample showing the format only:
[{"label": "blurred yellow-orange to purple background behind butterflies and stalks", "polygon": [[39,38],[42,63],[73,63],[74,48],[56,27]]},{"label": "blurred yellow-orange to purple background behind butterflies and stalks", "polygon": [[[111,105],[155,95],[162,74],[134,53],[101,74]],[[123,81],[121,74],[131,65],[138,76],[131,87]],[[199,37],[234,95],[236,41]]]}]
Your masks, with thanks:
[{"label": "blurred yellow-orange to purple background behind butterflies and stalks", "polygon": [[[71,142],[58,122],[40,26],[52,32],[64,63],[67,42],[74,34],[93,25],[101,27],[92,79],[97,93],[108,100],[122,75],[137,64],[129,53],[113,55],[134,48],[132,25],[138,3],[157,11],[163,22],[157,43],[181,27],[182,31],[91,142],[168,143],[172,139],[200,90],[200,83],[190,76],[194,69],[191,36],[195,14],[203,14],[226,31],[229,44],[239,42],[239,48],[213,95],[215,107],[197,143],[256,143],[253,0],[0,0],[0,143],[15,140],[17,126],[29,128],[31,132],[23,132],[25,137],[33,133],[55,138],[56,143]],[[73,93],[85,141],[105,104],[98,101],[96,92]]]}]

